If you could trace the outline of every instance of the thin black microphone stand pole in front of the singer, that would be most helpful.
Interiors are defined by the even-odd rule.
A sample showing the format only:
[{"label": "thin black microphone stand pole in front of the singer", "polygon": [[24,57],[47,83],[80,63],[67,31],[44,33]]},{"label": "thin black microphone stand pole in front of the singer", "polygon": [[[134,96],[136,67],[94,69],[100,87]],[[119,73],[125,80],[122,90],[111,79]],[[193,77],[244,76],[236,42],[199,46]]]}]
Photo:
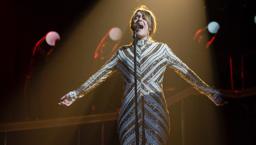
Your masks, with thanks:
[{"label": "thin black microphone stand pole in front of the singer", "polygon": [[139,123],[138,123],[138,97],[137,97],[137,64],[136,64],[136,32],[133,31],[133,47],[134,47],[134,89],[135,89],[135,135],[136,145],[139,145]]}]

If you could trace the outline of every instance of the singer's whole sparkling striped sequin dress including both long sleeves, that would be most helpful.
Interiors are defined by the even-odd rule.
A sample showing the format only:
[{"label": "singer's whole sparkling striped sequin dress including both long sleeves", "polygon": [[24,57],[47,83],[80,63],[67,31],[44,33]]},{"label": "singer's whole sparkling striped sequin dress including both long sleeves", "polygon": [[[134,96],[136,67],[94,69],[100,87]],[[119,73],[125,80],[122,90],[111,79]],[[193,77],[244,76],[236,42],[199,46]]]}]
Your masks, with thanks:
[{"label": "singer's whole sparkling striped sequin dress including both long sleeves", "polygon": [[[165,145],[170,132],[169,112],[162,90],[163,74],[167,67],[213,102],[219,92],[205,84],[166,44],[139,40],[136,48],[139,143]],[[122,145],[133,145],[136,144],[136,137],[132,44],[120,47],[97,73],[77,90],[71,91],[70,96],[73,101],[83,97],[116,71],[121,73],[124,83],[118,116],[119,140]]]}]

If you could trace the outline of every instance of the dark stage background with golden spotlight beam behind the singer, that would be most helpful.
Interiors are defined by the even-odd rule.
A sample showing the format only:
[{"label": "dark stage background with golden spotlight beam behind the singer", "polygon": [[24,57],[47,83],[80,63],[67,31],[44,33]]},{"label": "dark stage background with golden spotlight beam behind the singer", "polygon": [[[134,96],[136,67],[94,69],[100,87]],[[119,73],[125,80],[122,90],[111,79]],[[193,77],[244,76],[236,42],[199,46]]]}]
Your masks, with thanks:
[{"label": "dark stage background with golden spotlight beam behind the singer", "polygon": [[[105,14],[104,9],[100,14],[91,16],[94,8],[101,1],[78,1],[72,2],[39,2],[39,1],[9,1],[1,2],[0,32],[1,32],[1,122],[11,123],[26,121],[26,107],[23,95],[28,64],[32,56],[35,44],[49,31],[56,31],[60,34],[61,41],[54,48],[50,59],[43,71],[38,74],[40,83],[38,83],[38,106],[39,110],[29,120],[38,118],[52,119],[71,116],[81,116],[97,113],[115,112],[120,106],[120,96],[123,87],[120,74],[113,75],[103,84],[88,93],[87,97],[80,99],[69,107],[58,106],[59,98],[68,91],[76,89],[84,83],[95,70],[97,71],[106,61],[91,63],[94,51],[100,40],[112,27],[119,27],[123,30],[123,38],[118,46],[132,42],[131,34],[128,32],[128,20],[134,7],[139,3],[131,1],[127,3],[136,3],[127,5],[118,11],[116,7],[121,2],[111,1],[113,6],[110,14]],[[109,6],[103,1],[99,5]],[[141,1],[142,5],[148,6],[158,18],[158,32],[154,39],[168,44],[173,52],[180,57],[190,69],[195,71],[208,85],[217,89],[231,90],[230,79],[230,58],[232,59],[233,89],[242,90],[256,86],[255,77],[255,42],[256,42],[256,24],[254,17],[256,15],[255,3],[253,1],[231,1],[216,0],[205,1],[198,12],[205,12],[206,21],[217,21],[221,28],[216,39],[210,48],[205,48],[205,44],[199,44],[193,41],[193,36],[198,29],[205,27],[199,25],[189,26],[179,21],[182,18],[182,11],[186,7],[179,8],[177,17],[169,18],[168,7],[171,4],[166,1],[153,2]],[[197,4],[191,1],[191,5]],[[171,2],[170,2],[171,3]],[[158,5],[158,6],[155,6]],[[164,6],[163,6],[164,5]],[[120,5],[121,6],[121,5]],[[161,9],[162,7],[162,9]],[[116,11],[115,11],[116,10]],[[127,12],[126,12],[127,11]],[[170,10],[171,11],[171,10]],[[119,17],[124,15],[125,23],[119,22]],[[85,24],[79,26],[78,21],[83,21],[84,15],[88,15]],[[110,17],[111,16],[111,17]],[[192,17],[197,17],[192,16]],[[176,25],[172,26],[165,23],[171,19]],[[96,24],[99,22],[100,24]],[[75,35],[75,44],[70,41],[70,35],[75,27],[85,27],[84,34]],[[171,25],[171,26],[170,26]],[[172,30],[169,32],[169,28]],[[90,30],[89,30],[90,29]],[[176,31],[174,31],[176,29]],[[187,31],[187,29],[190,29]],[[192,32],[192,33],[190,33]],[[186,35],[183,35],[186,33]],[[213,34],[209,32],[205,36],[211,39]],[[177,42],[174,39],[179,40]],[[186,38],[189,38],[187,40]],[[207,38],[206,38],[207,39]],[[176,43],[175,43],[176,42]],[[65,48],[65,46],[73,46]],[[187,47],[189,46],[189,48]],[[205,58],[211,58],[210,66],[205,62]],[[242,63],[244,69],[244,88],[242,86]],[[58,63],[56,63],[58,62]],[[87,65],[88,64],[88,65]],[[93,66],[93,65],[96,66]],[[210,70],[210,77],[208,73]],[[178,75],[172,70],[167,70],[164,79],[164,93],[166,98],[175,93],[188,88]],[[165,88],[174,88],[174,91],[167,91]],[[43,93],[42,93],[43,92]],[[246,98],[226,99],[229,104],[224,107],[214,106],[207,97],[190,96],[184,99],[185,105],[185,144],[255,144],[256,143],[256,102],[255,96]],[[35,102],[29,102],[36,104]],[[95,111],[92,109],[95,106]],[[171,134],[168,144],[181,144],[181,101],[168,107],[171,119]],[[214,119],[213,119],[214,118]],[[118,135],[116,131],[116,121],[105,122],[106,132],[105,144],[118,144]],[[75,132],[70,135],[72,130]],[[77,130],[80,130],[81,144],[101,144],[101,124],[86,124],[81,126],[69,126],[61,128],[49,128],[40,130],[28,130],[8,132],[8,144],[77,144]],[[60,133],[61,132],[61,133]],[[95,140],[92,140],[94,139]],[[98,139],[97,139],[98,138]],[[209,143],[210,142],[210,143]],[[4,133],[1,133],[0,144],[4,143]]]}]

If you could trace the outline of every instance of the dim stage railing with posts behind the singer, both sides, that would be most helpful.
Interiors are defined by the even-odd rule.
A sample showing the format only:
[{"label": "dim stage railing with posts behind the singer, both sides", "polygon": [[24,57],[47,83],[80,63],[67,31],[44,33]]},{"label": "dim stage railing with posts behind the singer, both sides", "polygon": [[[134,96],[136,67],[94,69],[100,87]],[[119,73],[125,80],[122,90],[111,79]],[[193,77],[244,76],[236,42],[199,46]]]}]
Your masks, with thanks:
[{"label": "dim stage railing with posts behind the singer, both sides", "polygon": [[[218,89],[229,98],[244,98],[250,96],[256,96],[256,87],[243,89],[243,90],[223,90]],[[202,95],[193,87],[189,87],[173,96],[167,97],[166,103],[167,106],[171,106],[172,104],[182,101],[186,97],[191,95]],[[181,106],[181,112],[183,113],[183,105]],[[68,118],[58,118],[58,119],[47,119],[47,120],[36,120],[36,121],[23,121],[23,122],[14,122],[14,123],[6,123],[0,124],[0,132],[5,132],[5,140],[4,144],[6,145],[6,136],[7,132],[12,131],[23,131],[23,130],[32,130],[32,129],[44,129],[44,128],[52,128],[52,127],[63,127],[63,126],[72,126],[72,125],[81,125],[81,124],[89,124],[102,122],[101,124],[101,134],[102,134],[102,145],[104,144],[104,122],[105,121],[113,121],[117,120],[118,112],[113,113],[104,113],[104,114],[95,114],[95,115],[86,115],[86,116],[77,116],[77,117],[68,117]],[[182,122],[184,122],[184,116],[181,118]],[[79,130],[80,132],[80,130]],[[79,138],[80,139],[80,138]],[[182,127],[182,142],[185,141],[185,129]],[[80,143],[79,143],[80,144]]]}]

